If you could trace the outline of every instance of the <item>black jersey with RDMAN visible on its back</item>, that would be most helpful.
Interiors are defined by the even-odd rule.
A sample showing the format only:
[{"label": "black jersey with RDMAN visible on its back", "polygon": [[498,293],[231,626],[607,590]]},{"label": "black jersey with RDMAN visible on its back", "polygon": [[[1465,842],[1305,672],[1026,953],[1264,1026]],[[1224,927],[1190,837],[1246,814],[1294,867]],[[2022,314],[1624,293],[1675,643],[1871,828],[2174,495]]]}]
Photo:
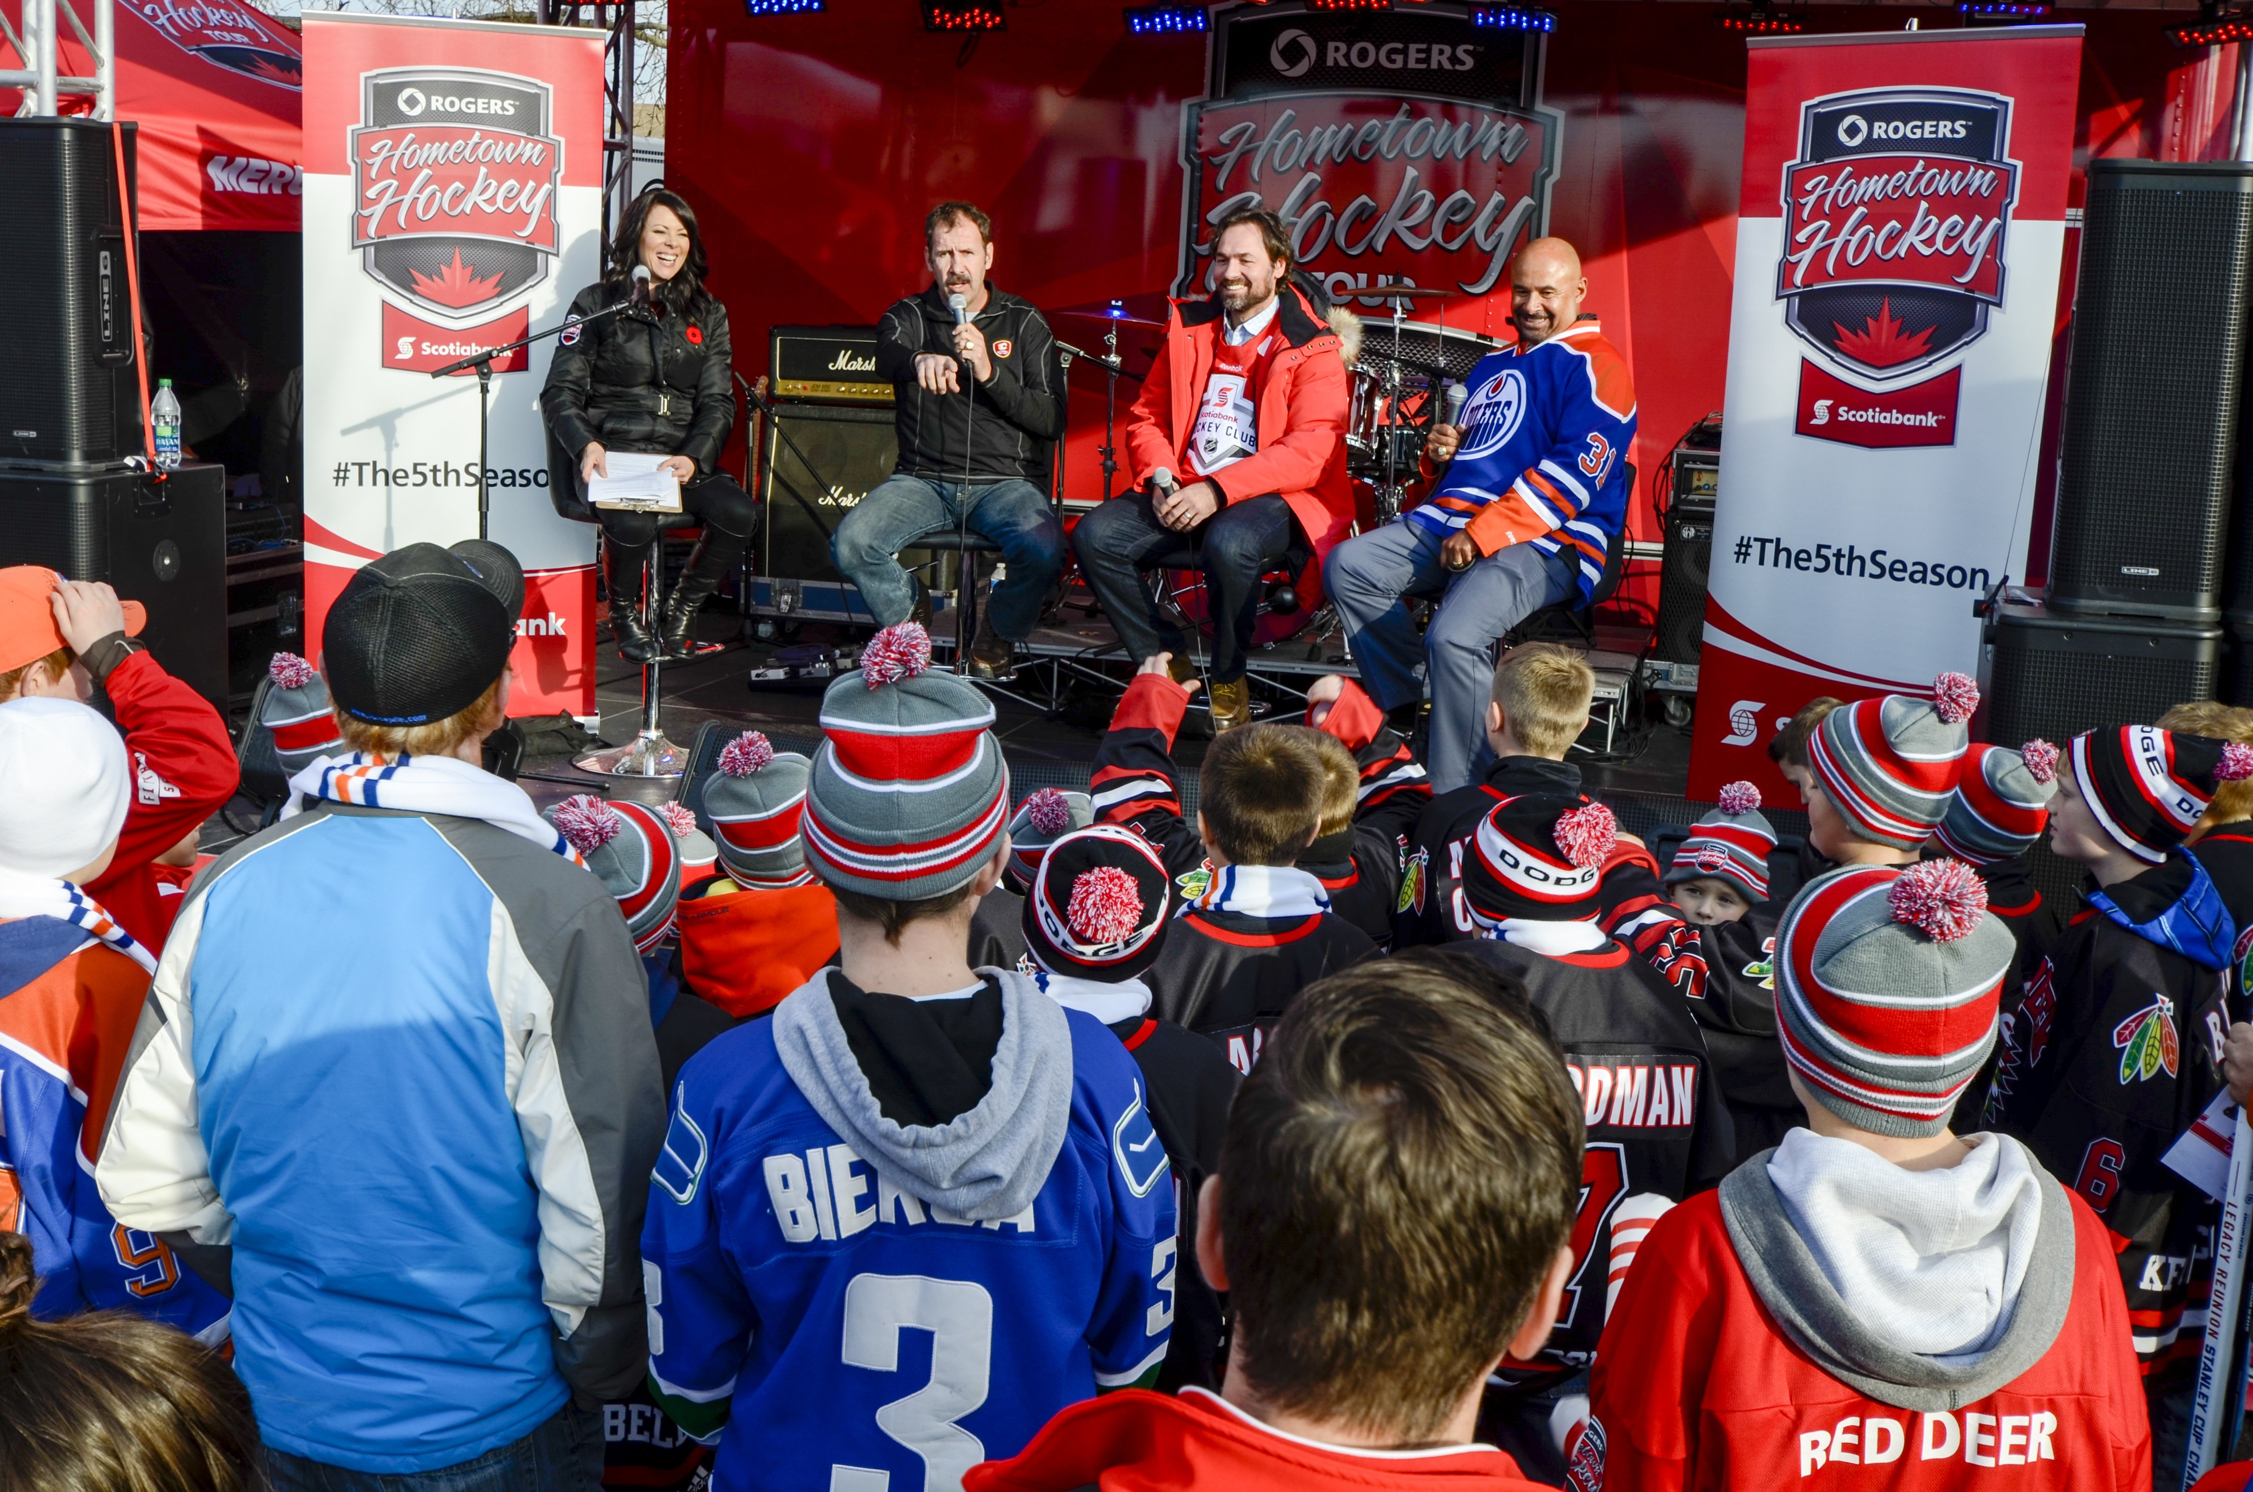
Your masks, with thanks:
[{"label": "black jersey with RDMAN visible on its back", "polygon": [[1548,1016],[1588,1122],[1557,1327],[1534,1361],[1505,1359],[1494,1379],[1525,1391],[1595,1359],[1645,1233],[1683,1197],[1719,1185],[1737,1152],[1697,1021],[1627,944],[1559,956],[1494,940],[1469,947],[1523,980]]}]

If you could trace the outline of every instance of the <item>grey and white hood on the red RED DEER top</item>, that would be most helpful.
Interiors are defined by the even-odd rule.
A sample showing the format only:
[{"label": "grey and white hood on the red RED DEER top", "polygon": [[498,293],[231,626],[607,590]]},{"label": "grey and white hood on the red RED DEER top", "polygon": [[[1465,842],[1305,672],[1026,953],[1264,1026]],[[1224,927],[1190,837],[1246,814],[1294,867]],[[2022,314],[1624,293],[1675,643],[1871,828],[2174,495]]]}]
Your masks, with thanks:
[{"label": "grey and white hood on the red RED DEER top", "polygon": [[1793,1129],[1721,1183],[1721,1222],[1784,1334],[1881,1404],[1974,1404],[2050,1350],[2073,1298],[2064,1188],[1998,1134],[1908,1172]]}]

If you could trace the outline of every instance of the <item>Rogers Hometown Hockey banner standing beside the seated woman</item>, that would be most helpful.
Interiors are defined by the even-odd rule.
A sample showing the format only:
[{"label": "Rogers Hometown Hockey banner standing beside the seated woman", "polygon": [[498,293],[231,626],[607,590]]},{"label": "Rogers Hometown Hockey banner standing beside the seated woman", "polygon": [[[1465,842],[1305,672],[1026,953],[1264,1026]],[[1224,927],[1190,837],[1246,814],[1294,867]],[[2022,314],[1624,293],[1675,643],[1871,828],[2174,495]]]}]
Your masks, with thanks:
[{"label": "Rogers Hometown Hockey banner standing beside the seated woman", "polygon": [[[496,65],[498,63],[498,65]],[[602,32],[304,16],[306,651],[351,572],[478,536],[478,376],[599,275]],[[554,343],[493,361],[491,539],[525,566],[509,714],[595,714],[595,527],[547,500]]]}]

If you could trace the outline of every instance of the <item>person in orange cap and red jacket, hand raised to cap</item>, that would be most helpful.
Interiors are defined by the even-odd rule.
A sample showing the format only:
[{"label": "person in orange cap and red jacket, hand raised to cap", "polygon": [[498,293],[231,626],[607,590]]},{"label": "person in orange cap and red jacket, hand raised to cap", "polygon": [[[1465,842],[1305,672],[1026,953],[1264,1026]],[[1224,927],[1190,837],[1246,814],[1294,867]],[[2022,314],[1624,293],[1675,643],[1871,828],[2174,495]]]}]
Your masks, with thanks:
[{"label": "person in orange cap and red jacket, hand raised to cap", "polygon": [[0,568],[0,701],[88,703],[95,685],[126,735],[133,796],[110,868],[86,892],[151,953],[180,911],[158,888],[155,859],[225,807],[241,782],[228,721],[137,642],[149,613],[101,581],[45,566]]}]

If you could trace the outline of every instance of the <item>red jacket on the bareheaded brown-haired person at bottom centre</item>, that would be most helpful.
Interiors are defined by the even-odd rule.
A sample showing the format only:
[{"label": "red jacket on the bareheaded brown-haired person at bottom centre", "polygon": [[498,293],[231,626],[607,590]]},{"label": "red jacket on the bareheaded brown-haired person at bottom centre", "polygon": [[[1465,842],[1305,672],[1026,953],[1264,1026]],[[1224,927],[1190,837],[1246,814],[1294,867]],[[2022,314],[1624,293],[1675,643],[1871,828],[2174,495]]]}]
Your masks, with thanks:
[{"label": "red jacket on the bareheaded brown-haired person at bottom centre", "polygon": [[1543,1492],[1491,1445],[1350,1451],[1268,1429],[1203,1388],[1169,1400],[1126,1388],[1072,1404],[1009,1460],[987,1460],[962,1492]]}]

